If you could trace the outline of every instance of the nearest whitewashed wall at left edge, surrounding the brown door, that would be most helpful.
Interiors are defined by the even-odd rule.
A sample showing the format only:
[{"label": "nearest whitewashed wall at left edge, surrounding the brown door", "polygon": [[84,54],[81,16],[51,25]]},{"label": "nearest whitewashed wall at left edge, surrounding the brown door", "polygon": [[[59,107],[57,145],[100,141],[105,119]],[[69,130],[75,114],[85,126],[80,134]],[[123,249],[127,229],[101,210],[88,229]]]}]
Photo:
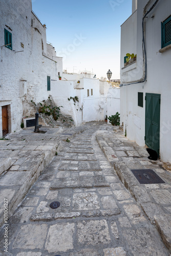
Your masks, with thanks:
[{"label": "nearest whitewashed wall at left edge, surrounding the brown door", "polygon": [[[6,27],[6,25],[9,28]],[[20,129],[23,114],[23,100],[26,83],[20,81],[28,76],[26,59],[30,52],[31,0],[0,2],[0,46],[5,45],[4,29],[12,33],[12,50],[2,47],[0,56],[0,106],[9,105],[9,132]],[[24,49],[20,43],[24,44]],[[24,52],[18,52],[23,51]],[[16,52],[16,53],[15,53]],[[18,52],[18,53],[17,53]],[[23,68],[22,68],[23,67]],[[0,112],[2,112],[0,108]],[[2,116],[2,113],[1,113]],[[0,117],[0,137],[2,118]]]}]

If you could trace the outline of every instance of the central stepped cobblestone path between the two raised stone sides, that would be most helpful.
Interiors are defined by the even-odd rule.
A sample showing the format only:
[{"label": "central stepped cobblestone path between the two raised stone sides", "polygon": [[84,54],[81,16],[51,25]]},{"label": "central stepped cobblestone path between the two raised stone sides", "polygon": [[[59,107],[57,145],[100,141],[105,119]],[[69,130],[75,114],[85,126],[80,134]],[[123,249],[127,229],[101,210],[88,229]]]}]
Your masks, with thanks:
[{"label": "central stepped cobblestone path between the two raised stone sides", "polygon": [[102,132],[109,133],[108,125],[97,123],[63,143],[10,218],[8,253],[2,230],[1,255],[169,255],[102,153],[96,141]]}]

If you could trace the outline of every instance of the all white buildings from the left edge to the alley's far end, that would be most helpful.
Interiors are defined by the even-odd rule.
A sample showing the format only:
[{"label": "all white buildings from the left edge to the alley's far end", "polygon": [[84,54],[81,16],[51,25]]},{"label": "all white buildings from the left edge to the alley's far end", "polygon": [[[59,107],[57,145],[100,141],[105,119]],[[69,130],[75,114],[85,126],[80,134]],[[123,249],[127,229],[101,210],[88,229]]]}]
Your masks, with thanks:
[{"label": "all white buildings from the left edge to the alley's far end", "polygon": [[0,138],[19,130],[24,116],[34,116],[34,104],[49,96],[75,125],[103,121],[109,83],[89,72],[62,72],[62,58],[47,43],[46,25],[32,11],[31,0],[1,0],[0,12]]}]

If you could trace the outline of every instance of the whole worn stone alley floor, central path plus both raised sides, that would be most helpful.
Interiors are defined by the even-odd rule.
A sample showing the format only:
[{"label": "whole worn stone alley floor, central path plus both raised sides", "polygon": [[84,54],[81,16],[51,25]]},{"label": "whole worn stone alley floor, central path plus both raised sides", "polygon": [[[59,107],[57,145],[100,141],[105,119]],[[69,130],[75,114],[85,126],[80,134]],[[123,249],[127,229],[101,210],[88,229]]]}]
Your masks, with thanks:
[{"label": "whole worn stone alley floor, central path plus both raised sides", "polygon": [[[46,134],[28,135],[26,129],[14,140],[15,145],[11,146],[14,146],[14,151],[0,149],[11,157],[12,166],[31,168],[32,183],[42,170],[29,191],[27,188],[29,189],[30,183],[27,180],[15,186],[15,189],[14,186],[1,186],[1,191],[4,191],[1,195],[2,218],[4,196],[7,195],[9,202],[12,202],[9,203],[11,209],[19,202],[13,192],[23,197],[23,190],[24,193],[28,191],[26,197],[23,197],[22,205],[8,221],[8,255],[169,255],[165,245],[169,248],[170,234],[167,227],[170,227],[170,204],[157,203],[156,199],[161,197],[163,190],[171,193],[171,186],[168,182],[139,184],[131,174],[131,169],[145,166],[155,172],[161,170],[165,178],[169,175],[168,171],[164,167],[161,169],[160,161],[150,161],[145,148],[127,140],[119,127],[105,123],[84,124],[83,127],[87,127],[87,130],[79,135],[82,126],[65,130],[63,134],[56,133],[55,128],[49,129]],[[69,134],[70,143],[66,142]],[[25,138],[27,143],[23,141]],[[58,155],[47,166],[46,161],[52,156],[48,153],[49,148],[54,148],[59,142],[62,145],[60,150],[55,147]],[[108,152],[103,154],[106,149],[109,149]],[[70,150],[92,150],[93,153],[70,153]],[[138,154],[140,157],[137,157]],[[28,158],[34,157],[40,157],[41,166],[38,167],[36,163],[32,166],[34,161],[29,163]],[[8,172],[18,173],[18,168]],[[0,180],[5,175],[3,173]],[[52,190],[56,182],[59,187],[53,187]],[[156,193],[155,197],[156,191],[160,193]],[[164,195],[169,196],[168,193]],[[56,209],[50,208],[52,201],[59,201],[60,206]],[[165,218],[160,219],[165,214]],[[152,223],[156,218],[158,231],[146,216]],[[3,242],[2,229],[1,248]],[[8,255],[2,253],[2,256]]]}]

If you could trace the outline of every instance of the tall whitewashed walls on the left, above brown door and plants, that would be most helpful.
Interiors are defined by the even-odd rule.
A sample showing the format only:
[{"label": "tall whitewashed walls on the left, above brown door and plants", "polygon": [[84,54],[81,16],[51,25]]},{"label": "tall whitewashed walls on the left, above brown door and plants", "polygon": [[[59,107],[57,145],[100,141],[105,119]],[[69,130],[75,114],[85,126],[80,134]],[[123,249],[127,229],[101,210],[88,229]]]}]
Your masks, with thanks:
[{"label": "tall whitewashed walls on the left, above brown door and plants", "polygon": [[[0,12],[0,45],[4,45],[6,28],[12,33],[13,48],[1,48],[0,106],[9,105],[9,132],[14,132],[20,129],[25,99],[38,103],[53,95],[53,82],[58,80],[58,72],[62,74],[62,58],[56,57],[53,47],[47,48],[46,28],[33,14],[31,0],[2,0]],[[51,77],[51,91],[47,91],[47,76]]]}]

